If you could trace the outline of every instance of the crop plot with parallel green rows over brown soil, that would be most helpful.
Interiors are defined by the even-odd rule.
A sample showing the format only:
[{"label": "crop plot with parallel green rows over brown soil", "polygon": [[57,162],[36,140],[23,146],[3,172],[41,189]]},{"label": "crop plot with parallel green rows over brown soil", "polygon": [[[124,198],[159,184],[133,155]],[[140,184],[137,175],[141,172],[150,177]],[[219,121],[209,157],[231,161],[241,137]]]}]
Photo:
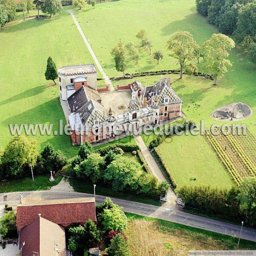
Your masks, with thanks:
[{"label": "crop plot with parallel green rows over brown soil", "polygon": [[[244,177],[256,175],[256,168],[253,164],[253,160],[248,157],[247,153],[243,150],[237,140],[237,137],[241,136],[243,135],[225,136],[219,134],[217,136],[206,136],[210,145],[216,151],[219,159],[237,185],[241,183]],[[245,145],[243,147],[247,148]]]}]

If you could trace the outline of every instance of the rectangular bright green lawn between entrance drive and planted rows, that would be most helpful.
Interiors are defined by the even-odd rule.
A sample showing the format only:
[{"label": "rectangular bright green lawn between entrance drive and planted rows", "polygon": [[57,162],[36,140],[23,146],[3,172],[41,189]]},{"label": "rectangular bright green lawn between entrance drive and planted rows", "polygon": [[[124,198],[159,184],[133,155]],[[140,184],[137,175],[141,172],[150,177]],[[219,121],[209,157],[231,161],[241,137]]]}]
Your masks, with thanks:
[{"label": "rectangular bright green lawn between entrance drive and planted rows", "polygon": [[[233,181],[203,136],[172,136],[158,146],[178,186],[230,188]],[[191,179],[196,180],[191,180]]]}]

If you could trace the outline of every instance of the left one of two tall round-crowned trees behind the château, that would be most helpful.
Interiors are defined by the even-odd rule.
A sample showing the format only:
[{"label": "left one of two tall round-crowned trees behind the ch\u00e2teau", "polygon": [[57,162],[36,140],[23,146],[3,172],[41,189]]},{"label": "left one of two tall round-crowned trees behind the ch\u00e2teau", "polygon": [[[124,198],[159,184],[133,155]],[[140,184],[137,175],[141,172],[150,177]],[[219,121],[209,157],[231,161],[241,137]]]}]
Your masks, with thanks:
[{"label": "left one of two tall round-crowned trees behind the ch\u00e2teau", "polygon": [[176,58],[180,64],[180,79],[183,76],[183,67],[188,61],[195,59],[195,49],[198,44],[193,36],[187,31],[178,32],[167,42],[167,49],[171,51],[170,56]]}]

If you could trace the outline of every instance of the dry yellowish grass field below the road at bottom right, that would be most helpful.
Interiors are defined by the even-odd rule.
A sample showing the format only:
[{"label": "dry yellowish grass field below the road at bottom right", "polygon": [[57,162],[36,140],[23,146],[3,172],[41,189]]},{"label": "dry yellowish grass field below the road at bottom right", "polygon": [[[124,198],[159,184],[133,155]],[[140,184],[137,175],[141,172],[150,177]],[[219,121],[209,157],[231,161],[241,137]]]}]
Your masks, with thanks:
[{"label": "dry yellowish grass field below the road at bottom right", "polygon": [[[188,255],[189,250],[235,250],[237,238],[132,213],[128,216],[131,255]],[[156,239],[157,238],[157,239]],[[240,250],[255,250],[256,243],[240,240]]]}]

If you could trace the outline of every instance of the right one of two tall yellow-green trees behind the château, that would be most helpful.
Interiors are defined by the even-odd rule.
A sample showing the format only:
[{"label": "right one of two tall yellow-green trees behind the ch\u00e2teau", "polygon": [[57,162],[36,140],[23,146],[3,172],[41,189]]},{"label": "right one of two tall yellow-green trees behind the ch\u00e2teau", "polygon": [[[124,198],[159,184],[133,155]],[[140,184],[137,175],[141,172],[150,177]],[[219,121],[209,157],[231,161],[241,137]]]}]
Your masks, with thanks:
[{"label": "right one of two tall yellow-green trees behind the ch\u00e2teau", "polygon": [[217,84],[218,78],[227,73],[228,67],[232,67],[227,57],[234,47],[235,42],[223,34],[213,34],[209,40],[204,42],[202,46],[205,61],[204,67],[207,72],[212,73],[212,77],[215,79],[214,84]]}]

